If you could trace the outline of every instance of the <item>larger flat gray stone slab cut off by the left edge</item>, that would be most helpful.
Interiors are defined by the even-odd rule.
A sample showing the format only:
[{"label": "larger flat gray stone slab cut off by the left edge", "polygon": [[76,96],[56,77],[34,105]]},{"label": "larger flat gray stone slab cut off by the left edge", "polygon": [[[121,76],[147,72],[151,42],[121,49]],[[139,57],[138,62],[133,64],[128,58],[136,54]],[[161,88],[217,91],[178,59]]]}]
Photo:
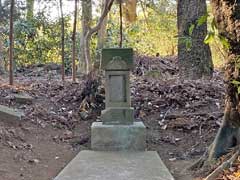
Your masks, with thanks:
[{"label": "larger flat gray stone slab cut off by the left edge", "polygon": [[19,121],[22,119],[23,116],[24,116],[24,113],[19,110],[0,105],[1,121],[6,121],[6,122]]}]

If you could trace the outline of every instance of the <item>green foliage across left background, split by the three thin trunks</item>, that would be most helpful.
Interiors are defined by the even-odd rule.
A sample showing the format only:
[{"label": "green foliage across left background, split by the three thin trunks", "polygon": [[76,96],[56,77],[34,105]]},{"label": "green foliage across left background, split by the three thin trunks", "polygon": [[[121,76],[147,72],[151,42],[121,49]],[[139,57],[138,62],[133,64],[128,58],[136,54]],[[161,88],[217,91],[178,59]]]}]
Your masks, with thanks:
[{"label": "green foliage across left background, split by the three thin trunks", "polygon": [[[5,49],[8,48],[8,30],[5,34]],[[65,62],[71,59],[70,17],[65,17]],[[16,66],[61,62],[61,24],[60,20],[49,21],[43,14],[31,20],[18,18],[14,22],[14,60]]]}]

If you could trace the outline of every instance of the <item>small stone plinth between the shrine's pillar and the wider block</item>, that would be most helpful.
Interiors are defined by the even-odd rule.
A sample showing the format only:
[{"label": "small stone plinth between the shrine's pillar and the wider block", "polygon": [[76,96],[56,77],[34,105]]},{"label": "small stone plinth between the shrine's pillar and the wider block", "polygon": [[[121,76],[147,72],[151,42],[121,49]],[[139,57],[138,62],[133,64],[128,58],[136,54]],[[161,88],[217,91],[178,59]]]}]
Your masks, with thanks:
[{"label": "small stone plinth between the shrine's pillar and the wider block", "polygon": [[134,120],[133,108],[107,108],[102,111],[101,120],[108,125],[131,125]]}]

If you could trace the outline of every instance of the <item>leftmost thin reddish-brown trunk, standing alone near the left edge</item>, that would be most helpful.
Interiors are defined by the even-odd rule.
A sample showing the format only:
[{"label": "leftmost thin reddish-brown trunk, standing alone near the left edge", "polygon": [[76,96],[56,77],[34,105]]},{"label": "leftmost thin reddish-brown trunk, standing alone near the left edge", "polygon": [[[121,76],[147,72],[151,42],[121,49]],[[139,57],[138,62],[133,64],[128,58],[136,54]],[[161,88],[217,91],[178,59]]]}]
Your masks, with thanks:
[{"label": "leftmost thin reddish-brown trunk, standing alone near the left edge", "polygon": [[13,12],[14,12],[14,0],[11,0],[10,8],[10,31],[9,31],[9,84],[13,85]]}]

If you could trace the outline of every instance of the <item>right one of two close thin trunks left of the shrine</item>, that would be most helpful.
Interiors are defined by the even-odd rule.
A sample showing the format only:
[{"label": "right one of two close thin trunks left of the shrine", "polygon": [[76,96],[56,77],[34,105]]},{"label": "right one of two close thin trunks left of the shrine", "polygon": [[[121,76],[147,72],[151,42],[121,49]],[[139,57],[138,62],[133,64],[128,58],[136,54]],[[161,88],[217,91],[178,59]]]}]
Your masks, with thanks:
[{"label": "right one of two close thin trunks left of the shrine", "polygon": [[72,34],[72,80],[76,82],[76,28],[77,28],[77,9],[78,0],[75,0],[75,11],[74,11],[74,23],[73,23],[73,34]]}]

